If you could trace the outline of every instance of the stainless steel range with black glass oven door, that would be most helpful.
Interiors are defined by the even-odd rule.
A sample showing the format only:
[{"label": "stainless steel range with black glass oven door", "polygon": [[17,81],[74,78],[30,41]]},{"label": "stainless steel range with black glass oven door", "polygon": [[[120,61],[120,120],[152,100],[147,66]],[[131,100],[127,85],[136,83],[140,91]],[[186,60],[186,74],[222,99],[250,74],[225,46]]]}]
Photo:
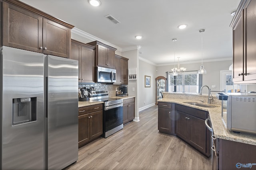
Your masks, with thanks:
[{"label": "stainless steel range with black glass oven door", "polygon": [[123,129],[123,100],[109,98],[108,90],[91,91],[90,100],[104,102],[103,136],[105,138]]}]

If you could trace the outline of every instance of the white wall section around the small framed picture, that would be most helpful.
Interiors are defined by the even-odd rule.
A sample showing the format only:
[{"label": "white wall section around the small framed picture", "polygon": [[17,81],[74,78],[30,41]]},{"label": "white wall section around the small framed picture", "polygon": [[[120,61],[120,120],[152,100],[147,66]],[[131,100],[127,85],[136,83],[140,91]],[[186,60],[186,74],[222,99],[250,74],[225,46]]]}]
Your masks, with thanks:
[{"label": "white wall section around the small framed picture", "polygon": [[[155,105],[156,102],[156,66],[139,60],[139,72],[138,107],[142,110]],[[145,75],[151,76],[151,86],[146,88]]]}]

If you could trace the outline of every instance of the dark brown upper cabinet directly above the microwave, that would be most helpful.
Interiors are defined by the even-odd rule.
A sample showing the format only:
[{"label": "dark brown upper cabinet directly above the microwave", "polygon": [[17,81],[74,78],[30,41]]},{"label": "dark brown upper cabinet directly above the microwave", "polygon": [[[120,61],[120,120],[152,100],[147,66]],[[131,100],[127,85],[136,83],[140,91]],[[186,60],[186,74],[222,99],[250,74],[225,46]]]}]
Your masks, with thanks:
[{"label": "dark brown upper cabinet directly above the microwave", "polygon": [[96,66],[115,68],[114,60],[116,49],[114,47],[110,47],[99,41],[93,41],[87,44],[96,47]]}]

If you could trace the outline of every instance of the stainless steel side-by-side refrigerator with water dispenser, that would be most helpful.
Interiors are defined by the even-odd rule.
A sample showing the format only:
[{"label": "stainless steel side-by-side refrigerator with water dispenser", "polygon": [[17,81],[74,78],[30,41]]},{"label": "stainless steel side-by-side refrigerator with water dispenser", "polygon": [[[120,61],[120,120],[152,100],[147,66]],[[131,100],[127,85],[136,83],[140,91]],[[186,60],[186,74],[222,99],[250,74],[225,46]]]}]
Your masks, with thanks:
[{"label": "stainless steel side-by-side refrigerator with water dispenser", "polygon": [[76,162],[78,61],[5,46],[0,56],[0,169]]}]

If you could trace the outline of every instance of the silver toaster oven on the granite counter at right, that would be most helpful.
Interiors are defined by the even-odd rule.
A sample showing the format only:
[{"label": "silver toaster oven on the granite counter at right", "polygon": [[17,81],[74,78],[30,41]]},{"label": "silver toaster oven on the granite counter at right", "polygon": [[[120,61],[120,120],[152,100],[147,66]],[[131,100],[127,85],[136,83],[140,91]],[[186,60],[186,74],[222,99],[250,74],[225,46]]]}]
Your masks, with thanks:
[{"label": "silver toaster oven on the granite counter at right", "polygon": [[222,93],[220,100],[227,100],[226,108],[222,104],[222,120],[229,131],[256,134],[256,94]]}]

